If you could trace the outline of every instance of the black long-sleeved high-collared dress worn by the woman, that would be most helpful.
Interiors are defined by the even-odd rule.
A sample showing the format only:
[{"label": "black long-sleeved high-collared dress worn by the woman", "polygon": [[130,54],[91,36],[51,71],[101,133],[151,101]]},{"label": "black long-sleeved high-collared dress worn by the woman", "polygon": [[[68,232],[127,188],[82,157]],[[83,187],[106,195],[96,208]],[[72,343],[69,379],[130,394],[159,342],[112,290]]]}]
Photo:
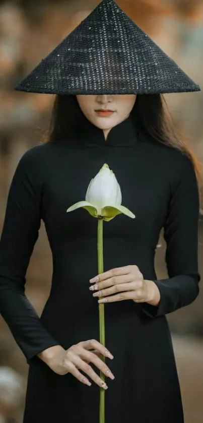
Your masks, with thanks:
[{"label": "black long-sleeved high-collared dress worn by the woman", "polygon": [[[115,172],[122,204],[136,219],[104,222],[105,270],[136,264],[161,292],[158,307],[132,300],[105,305],[108,379],[106,423],[182,423],[183,413],[165,315],[198,294],[198,191],[190,160],[147,139],[131,119],[103,132],[88,124],[77,139],[30,149],[16,170],[1,241],[0,310],[30,365],[24,423],[98,422],[99,387],[53,373],[36,354],[52,346],[99,340],[98,303],[89,290],[97,275],[97,219],[85,199],[104,163]],[[46,226],[53,257],[50,296],[39,319],[25,296],[25,274]],[[165,228],[169,279],[157,280],[154,257]]]}]

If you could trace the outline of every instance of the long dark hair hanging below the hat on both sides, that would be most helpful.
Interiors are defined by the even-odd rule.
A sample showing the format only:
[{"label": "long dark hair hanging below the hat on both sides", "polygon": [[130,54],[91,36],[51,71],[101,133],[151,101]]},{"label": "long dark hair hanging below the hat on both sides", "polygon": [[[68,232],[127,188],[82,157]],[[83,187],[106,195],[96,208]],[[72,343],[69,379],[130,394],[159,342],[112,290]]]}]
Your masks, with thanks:
[{"label": "long dark hair hanging below the hat on both sides", "polygon": [[[131,116],[146,136],[176,148],[189,157],[194,166],[201,197],[201,164],[184,137],[178,133],[163,95],[138,94]],[[77,129],[85,125],[85,119],[76,96],[56,95],[45,141],[57,142],[67,139],[68,142],[69,137],[73,137]]]}]

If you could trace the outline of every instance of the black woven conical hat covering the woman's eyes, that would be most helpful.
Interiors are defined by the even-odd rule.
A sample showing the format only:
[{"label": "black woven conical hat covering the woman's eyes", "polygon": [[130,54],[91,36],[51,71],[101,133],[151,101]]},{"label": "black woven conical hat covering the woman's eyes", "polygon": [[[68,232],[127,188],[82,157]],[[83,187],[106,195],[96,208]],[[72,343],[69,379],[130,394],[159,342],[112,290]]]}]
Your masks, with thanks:
[{"label": "black woven conical hat covering the woman's eyes", "polygon": [[16,90],[159,94],[200,88],[113,0],[103,0]]}]

